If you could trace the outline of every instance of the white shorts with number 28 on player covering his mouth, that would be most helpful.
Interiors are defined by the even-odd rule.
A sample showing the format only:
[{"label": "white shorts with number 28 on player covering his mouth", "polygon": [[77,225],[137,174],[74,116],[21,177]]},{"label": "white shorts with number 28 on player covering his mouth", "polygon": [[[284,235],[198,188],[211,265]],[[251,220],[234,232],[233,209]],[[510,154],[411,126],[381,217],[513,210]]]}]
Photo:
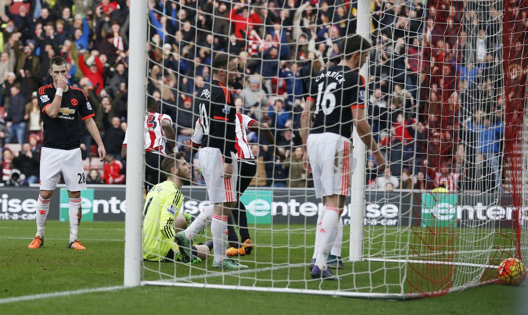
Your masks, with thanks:
[{"label": "white shorts with number 28 on player covering his mouth", "polygon": [[40,157],[40,189],[53,190],[62,173],[66,189],[77,192],[86,189],[81,149],[42,148]]}]

